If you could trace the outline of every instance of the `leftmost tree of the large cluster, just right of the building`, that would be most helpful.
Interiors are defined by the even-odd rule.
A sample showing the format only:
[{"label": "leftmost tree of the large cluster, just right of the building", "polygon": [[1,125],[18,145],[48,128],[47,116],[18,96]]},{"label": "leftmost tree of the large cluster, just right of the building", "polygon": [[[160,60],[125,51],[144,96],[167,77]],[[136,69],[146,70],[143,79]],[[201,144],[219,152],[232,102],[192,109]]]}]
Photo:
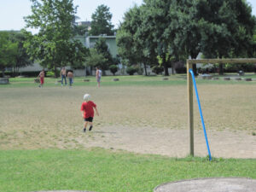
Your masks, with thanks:
[{"label": "leftmost tree of the large cluster, just right of the building", "polygon": [[117,32],[117,45],[119,56],[130,65],[143,63],[147,75],[147,65],[153,65],[157,60],[152,32],[148,27],[149,18],[143,13],[144,7],[137,6],[125,13],[124,22]]}]

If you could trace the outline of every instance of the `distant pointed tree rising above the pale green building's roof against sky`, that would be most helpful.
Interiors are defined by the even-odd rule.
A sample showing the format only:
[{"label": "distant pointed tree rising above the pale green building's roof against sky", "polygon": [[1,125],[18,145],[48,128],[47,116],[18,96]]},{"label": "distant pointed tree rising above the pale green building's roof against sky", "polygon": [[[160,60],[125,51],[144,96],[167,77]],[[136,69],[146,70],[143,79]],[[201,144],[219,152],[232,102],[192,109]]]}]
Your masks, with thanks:
[{"label": "distant pointed tree rising above the pale green building's roof against sky", "polygon": [[91,15],[90,35],[113,35],[113,25],[111,24],[112,14],[106,5],[99,5],[96,12]]}]

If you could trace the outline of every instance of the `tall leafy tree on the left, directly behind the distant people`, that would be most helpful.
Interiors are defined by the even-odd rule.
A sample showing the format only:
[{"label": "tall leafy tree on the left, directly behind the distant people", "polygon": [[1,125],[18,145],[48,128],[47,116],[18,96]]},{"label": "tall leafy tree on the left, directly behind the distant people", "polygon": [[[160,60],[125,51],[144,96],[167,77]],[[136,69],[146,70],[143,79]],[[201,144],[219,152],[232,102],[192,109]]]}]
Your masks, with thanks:
[{"label": "tall leafy tree on the left, directly behind the distant people", "polygon": [[[76,8],[73,0],[31,0],[32,15],[25,17],[26,27],[39,29],[38,34],[26,34],[26,49],[29,55],[43,67],[54,70],[70,64],[70,55],[77,51],[73,39],[73,20]],[[73,61],[77,58],[72,57]]]}]

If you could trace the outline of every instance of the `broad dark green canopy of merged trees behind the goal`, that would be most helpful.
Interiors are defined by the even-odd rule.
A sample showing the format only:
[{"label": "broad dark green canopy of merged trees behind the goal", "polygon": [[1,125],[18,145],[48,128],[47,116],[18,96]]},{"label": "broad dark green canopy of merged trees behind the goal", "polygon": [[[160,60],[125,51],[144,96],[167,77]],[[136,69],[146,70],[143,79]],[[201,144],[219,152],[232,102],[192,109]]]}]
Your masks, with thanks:
[{"label": "broad dark green canopy of merged trees behind the goal", "polygon": [[117,44],[120,55],[132,62],[143,62],[147,52],[160,58],[156,65],[168,75],[173,60],[189,55],[252,56],[255,26],[244,0],[144,0],[125,13]]}]

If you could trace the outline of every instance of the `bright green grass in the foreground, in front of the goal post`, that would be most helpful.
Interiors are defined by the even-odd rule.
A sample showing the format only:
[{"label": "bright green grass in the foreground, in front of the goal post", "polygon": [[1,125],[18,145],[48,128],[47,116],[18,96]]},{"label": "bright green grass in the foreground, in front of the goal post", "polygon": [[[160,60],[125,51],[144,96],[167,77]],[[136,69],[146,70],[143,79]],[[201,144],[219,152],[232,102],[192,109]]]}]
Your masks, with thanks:
[{"label": "bright green grass in the foreground, in front of the goal post", "polygon": [[195,177],[256,178],[256,160],[184,158],[87,150],[0,151],[0,191],[152,192]]}]

